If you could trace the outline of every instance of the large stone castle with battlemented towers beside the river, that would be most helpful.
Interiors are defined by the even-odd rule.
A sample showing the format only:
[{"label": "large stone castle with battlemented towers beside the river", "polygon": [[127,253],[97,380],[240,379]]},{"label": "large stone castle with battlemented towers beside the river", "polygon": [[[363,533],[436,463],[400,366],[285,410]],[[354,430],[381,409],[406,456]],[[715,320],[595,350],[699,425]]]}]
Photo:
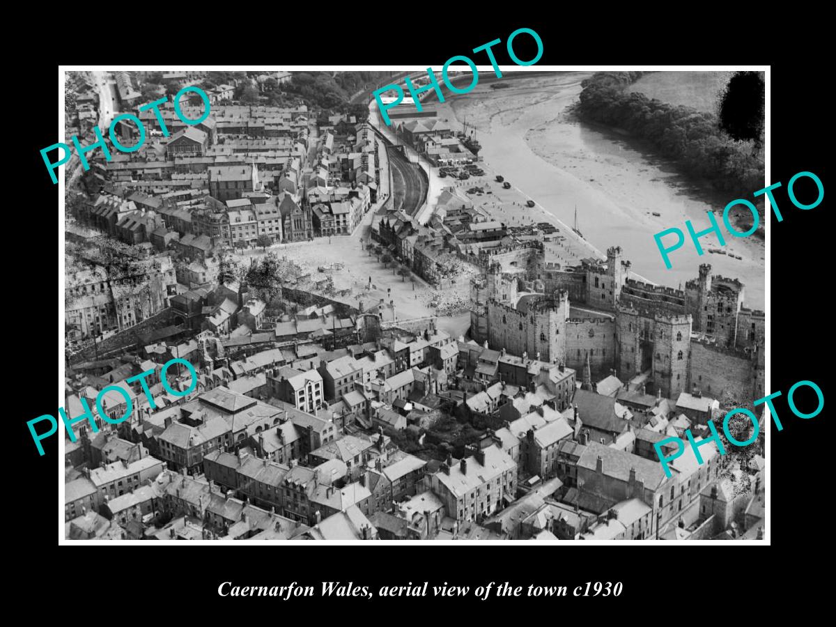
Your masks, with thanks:
[{"label": "large stone castle with battlemented towers beside the river", "polygon": [[623,381],[645,374],[646,392],[667,398],[762,397],[765,316],[743,307],[740,281],[712,277],[709,264],[684,291],[629,275],[620,247],[564,268],[543,247],[504,252],[471,280],[472,338]]}]

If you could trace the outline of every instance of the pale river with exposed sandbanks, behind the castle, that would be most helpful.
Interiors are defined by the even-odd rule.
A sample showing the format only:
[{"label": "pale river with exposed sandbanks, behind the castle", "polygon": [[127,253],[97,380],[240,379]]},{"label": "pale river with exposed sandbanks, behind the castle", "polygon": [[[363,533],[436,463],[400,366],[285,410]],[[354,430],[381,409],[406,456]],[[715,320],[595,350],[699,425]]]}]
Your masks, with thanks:
[{"label": "pale river with exposed sandbanks, behind the castle", "polygon": [[581,81],[590,75],[521,76],[507,89],[480,84],[470,94],[435,106],[454,130],[464,121],[475,128],[484,161],[533,197],[548,215],[571,225],[577,206],[579,230],[599,251],[620,246],[635,272],[673,288],[684,288],[687,280],[698,276],[701,263],[711,263],[713,273],[746,284],[747,307],[764,308],[765,255],[760,240],[726,237],[726,247],[720,247],[716,237],[703,237],[706,251],[720,248],[742,258],[707,252],[698,256],[694,247],[686,246],[672,254],[673,268],[665,268],[654,233],[684,229],[686,220],[705,228],[706,212],[716,206],[669,161],[568,115]]}]

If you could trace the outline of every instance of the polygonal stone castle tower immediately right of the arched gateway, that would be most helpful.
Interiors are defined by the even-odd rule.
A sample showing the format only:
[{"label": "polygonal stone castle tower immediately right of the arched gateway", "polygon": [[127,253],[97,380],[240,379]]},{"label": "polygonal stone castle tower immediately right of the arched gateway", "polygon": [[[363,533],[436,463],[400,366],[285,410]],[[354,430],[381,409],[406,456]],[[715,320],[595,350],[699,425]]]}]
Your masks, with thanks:
[{"label": "polygonal stone castle tower immediately right of the arched gateway", "polygon": [[653,380],[662,395],[675,399],[688,391],[691,315],[656,314],[653,329]]}]

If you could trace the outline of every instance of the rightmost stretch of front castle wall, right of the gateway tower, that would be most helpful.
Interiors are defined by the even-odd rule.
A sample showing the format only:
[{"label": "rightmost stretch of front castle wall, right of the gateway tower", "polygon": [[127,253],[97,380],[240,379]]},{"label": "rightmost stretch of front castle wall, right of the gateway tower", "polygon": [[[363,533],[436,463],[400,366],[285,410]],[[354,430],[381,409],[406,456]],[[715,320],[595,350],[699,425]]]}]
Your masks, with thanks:
[{"label": "rightmost stretch of front castle wall, right of the gateway tower", "polygon": [[742,351],[723,349],[714,344],[691,340],[691,380],[706,396],[721,398],[731,392],[742,403],[762,398],[753,389],[757,377],[752,371],[752,359]]}]

